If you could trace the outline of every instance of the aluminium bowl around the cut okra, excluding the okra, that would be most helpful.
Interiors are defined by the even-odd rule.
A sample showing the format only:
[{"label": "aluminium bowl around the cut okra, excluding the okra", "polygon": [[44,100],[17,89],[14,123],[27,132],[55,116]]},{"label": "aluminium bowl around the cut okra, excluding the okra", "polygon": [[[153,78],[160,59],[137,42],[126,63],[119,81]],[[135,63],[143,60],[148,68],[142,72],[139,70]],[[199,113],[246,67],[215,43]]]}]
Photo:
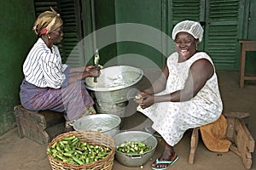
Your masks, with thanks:
[{"label": "aluminium bowl around the cut okra, excluding the okra", "polygon": [[151,150],[143,154],[125,154],[119,150],[115,150],[115,159],[126,167],[139,167],[147,163],[154,155],[157,146],[157,139],[152,134],[144,133],[142,131],[127,131],[118,133],[113,136],[114,142],[117,145],[129,141],[139,141],[151,146]]}]

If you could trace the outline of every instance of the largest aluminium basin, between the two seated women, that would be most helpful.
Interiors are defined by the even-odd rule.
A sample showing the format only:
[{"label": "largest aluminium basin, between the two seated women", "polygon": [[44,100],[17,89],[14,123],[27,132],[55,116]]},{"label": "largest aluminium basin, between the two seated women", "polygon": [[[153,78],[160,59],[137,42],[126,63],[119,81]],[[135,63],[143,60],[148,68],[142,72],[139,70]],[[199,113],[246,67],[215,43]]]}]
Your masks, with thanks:
[{"label": "largest aluminium basin, between the two seated women", "polygon": [[101,70],[97,82],[93,77],[87,77],[85,87],[93,92],[97,101],[115,104],[127,101],[129,90],[136,88],[142,78],[143,71],[137,67],[110,66]]}]

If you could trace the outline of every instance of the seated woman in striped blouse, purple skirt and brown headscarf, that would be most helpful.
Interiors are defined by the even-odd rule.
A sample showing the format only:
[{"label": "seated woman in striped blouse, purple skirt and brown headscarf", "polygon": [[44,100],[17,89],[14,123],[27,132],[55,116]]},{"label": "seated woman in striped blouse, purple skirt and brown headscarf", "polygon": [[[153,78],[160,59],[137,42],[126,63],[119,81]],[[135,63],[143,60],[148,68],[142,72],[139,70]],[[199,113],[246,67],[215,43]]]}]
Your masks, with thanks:
[{"label": "seated woman in striped blouse, purple skirt and brown headscarf", "polygon": [[40,14],[33,31],[38,35],[23,64],[24,80],[20,85],[20,102],[31,111],[64,112],[66,131],[73,130],[72,122],[95,114],[94,102],[84,87],[85,77],[98,77],[94,66],[71,68],[61,63],[55,43],[63,37],[62,20],[53,8]]}]

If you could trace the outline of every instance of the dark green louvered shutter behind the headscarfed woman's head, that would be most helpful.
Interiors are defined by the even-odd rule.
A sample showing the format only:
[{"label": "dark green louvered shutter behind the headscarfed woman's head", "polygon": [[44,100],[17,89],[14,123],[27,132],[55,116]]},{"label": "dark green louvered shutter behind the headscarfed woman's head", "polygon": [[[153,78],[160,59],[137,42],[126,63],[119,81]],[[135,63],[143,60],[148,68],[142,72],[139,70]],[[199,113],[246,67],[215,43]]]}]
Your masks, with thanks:
[{"label": "dark green louvered shutter behind the headscarfed woman's head", "polygon": [[71,66],[84,65],[84,48],[79,43],[83,38],[79,0],[34,0],[36,17],[49,7],[61,14],[64,37],[58,47],[64,63]]}]

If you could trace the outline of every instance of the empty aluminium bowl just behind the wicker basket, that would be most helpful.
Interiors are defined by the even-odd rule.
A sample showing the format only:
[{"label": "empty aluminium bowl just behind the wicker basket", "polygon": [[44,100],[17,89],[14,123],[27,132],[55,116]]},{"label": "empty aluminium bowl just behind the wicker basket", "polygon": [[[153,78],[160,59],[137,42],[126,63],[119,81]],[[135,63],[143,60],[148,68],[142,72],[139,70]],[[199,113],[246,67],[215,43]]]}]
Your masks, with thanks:
[{"label": "empty aluminium bowl just behind the wicker basket", "polygon": [[109,136],[119,133],[121,118],[112,114],[96,114],[79,118],[73,123],[75,130],[92,130],[98,131]]}]

